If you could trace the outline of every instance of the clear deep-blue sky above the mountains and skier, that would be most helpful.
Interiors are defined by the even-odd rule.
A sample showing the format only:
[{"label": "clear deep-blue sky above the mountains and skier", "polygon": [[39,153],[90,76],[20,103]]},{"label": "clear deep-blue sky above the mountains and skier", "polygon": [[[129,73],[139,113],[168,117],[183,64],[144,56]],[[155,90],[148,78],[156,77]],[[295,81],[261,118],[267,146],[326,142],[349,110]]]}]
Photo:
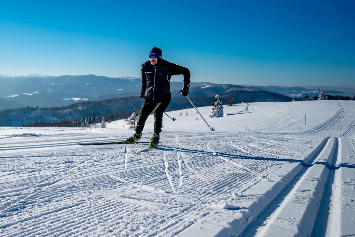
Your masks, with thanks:
[{"label": "clear deep-blue sky above the mountains and skier", "polygon": [[354,0],[0,0],[0,74],[140,77],[159,47],[192,81],[355,86],[354,12]]}]

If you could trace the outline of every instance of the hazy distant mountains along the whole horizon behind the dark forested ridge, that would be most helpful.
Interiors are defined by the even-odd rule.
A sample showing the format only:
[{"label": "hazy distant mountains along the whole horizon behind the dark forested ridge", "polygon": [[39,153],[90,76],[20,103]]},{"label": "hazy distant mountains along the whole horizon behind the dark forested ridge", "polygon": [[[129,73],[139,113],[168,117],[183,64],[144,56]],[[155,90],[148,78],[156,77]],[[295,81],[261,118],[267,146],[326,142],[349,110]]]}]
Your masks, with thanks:
[{"label": "hazy distant mountains along the whole horizon behind the dark forested ridge", "polygon": [[[141,90],[141,78],[105,77],[95,75],[27,75],[8,76],[0,74],[0,109],[18,107],[62,107],[81,101],[101,101],[116,97],[137,96]],[[173,97],[179,96],[183,83],[171,81]],[[318,95],[318,88],[282,86],[217,86],[211,82],[192,82],[190,96],[214,96],[228,90],[268,91],[288,97],[311,97]],[[323,89],[333,95],[352,96],[355,92]]]}]

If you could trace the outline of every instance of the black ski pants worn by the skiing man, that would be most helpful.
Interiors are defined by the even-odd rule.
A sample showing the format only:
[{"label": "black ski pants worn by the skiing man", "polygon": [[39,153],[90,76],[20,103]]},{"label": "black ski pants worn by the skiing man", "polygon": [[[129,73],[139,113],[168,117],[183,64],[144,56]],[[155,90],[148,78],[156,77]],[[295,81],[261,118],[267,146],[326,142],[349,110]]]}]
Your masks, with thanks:
[{"label": "black ski pants worn by the skiing man", "polygon": [[136,133],[142,133],[144,124],[146,123],[146,120],[149,116],[154,111],[154,133],[160,133],[162,131],[162,125],[163,125],[163,113],[168,108],[169,103],[171,101],[171,93],[169,92],[166,96],[160,98],[160,99],[148,99],[146,98],[144,100],[144,103],[141,108],[141,112],[138,117],[137,121],[137,128],[136,128]]}]

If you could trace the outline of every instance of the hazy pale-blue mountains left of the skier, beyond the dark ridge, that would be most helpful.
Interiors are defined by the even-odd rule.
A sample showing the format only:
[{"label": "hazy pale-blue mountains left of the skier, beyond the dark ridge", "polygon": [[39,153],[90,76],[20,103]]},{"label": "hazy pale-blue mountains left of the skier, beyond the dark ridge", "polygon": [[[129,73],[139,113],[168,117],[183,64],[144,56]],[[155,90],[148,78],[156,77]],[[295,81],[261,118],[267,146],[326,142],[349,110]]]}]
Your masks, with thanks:
[{"label": "hazy pale-blue mountains left of the skier, beyond the dark ridge", "polygon": [[61,107],[78,101],[98,101],[137,92],[141,79],[95,75],[0,77],[0,98],[32,107]]}]

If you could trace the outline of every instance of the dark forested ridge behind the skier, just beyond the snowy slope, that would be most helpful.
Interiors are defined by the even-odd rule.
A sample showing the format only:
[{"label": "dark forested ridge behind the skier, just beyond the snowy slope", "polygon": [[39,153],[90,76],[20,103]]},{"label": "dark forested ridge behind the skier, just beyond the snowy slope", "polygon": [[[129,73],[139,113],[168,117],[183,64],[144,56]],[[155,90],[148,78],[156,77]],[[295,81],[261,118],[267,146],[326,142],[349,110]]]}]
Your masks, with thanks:
[{"label": "dark forested ridge behind the skier, just beyond the snowy slope", "polygon": [[[168,110],[179,110],[192,108],[189,101],[179,95],[181,87],[171,88],[173,99]],[[214,96],[218,94],[223,104],[267,101],[291,101],[290,97],[267,91],[260,91],[253,87],[243,87],[229,84],[211,84],[191,88],[190,99],[196,107],[211,106],[214,103]],[[75,120],[91,119],[94,122],[124,118],[132,113],[133,109],[140,111],[143,99],[138,96],[123,98],[105,99],[103,101],[85,101],[71,104],[65,107],[24,107],[5,109],[0,111],[0,126],[29,126],[51,124],[71,126],[75,125]],[[94,118],[95,117],[95,118]]]}]

